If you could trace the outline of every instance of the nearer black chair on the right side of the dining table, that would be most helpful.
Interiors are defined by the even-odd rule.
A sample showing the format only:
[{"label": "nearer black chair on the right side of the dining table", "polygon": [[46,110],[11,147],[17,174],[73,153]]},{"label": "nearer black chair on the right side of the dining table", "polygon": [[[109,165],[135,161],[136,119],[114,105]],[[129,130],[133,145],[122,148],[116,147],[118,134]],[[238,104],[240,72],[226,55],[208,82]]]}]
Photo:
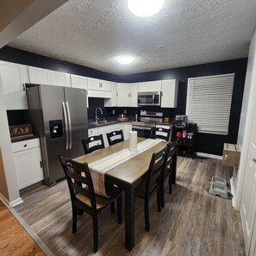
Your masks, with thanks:
[{"label": "nearer black chair on the right side of the dining table", "polygon": [[167,147],[153,153],[146,177],[136,187],[135,196],[144,200],[145,228],[149,231],[149,198],[157,192],[158,211],[161,211],[162,172],[165,165]]}]

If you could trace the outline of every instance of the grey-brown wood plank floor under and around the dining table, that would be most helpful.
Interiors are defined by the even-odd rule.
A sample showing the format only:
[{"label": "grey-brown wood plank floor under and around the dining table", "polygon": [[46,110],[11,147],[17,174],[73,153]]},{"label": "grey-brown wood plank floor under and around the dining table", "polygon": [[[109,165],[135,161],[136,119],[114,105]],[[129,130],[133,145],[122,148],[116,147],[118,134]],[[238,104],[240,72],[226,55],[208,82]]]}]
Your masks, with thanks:
[{"label": "grey-brown wood plank floor under and around the dining table", "polygon": [[[135,246],[124,247],[124,222],[104,209],[99,214],[99,250],[95,255],[245,255],[240,215],[231,200],[209,195],[209,179],[229,178],[232,168],[221,160],[178,157],[177,184],[165,194],[165,208],[150,202],[151,230],[144,228],[143,201],[135,202]],[[165,183],[167,191],[167,182]],[[93,255],[89,215],[78,215],[78,232],[72,234],[72,210],[66,181],[49,188],[41,185],[22,193],[16,211],[55,255]]]}]

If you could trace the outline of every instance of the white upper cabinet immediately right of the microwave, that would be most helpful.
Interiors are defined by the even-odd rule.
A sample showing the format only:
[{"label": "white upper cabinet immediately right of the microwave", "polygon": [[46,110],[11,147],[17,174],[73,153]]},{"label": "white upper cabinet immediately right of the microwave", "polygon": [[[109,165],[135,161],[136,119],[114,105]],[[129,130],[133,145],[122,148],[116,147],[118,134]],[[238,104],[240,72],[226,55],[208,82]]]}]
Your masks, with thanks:
[{"label": "white upper cabinet immediately right of the microwave", "polygon": [[178,80],[162,81],[161,108],[177,108]]}]

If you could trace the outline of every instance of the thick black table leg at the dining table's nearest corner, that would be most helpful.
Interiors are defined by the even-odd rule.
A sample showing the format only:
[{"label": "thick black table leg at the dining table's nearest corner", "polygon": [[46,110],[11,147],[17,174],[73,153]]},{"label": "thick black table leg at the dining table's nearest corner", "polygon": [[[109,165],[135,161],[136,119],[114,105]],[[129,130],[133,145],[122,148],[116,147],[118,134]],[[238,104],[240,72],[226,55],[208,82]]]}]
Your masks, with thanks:
[{"label": "thick black table leg at the dining table's nearest corner", "polygon": [[129,187],[125,194],[125,247],[134,248],[134,188]]}]

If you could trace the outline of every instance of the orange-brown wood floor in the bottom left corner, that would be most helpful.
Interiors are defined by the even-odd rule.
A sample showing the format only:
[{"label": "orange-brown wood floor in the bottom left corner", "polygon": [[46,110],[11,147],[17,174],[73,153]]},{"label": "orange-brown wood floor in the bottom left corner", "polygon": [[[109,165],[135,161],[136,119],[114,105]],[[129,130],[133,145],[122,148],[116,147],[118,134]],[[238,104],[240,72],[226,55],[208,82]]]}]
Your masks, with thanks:
[{"label": "orange-brown wood floor in the bottom left corner", "polygon": [[0,200],[0,255],[44,256],[45,253],[37,246],[26,230],[10,213]]}]

